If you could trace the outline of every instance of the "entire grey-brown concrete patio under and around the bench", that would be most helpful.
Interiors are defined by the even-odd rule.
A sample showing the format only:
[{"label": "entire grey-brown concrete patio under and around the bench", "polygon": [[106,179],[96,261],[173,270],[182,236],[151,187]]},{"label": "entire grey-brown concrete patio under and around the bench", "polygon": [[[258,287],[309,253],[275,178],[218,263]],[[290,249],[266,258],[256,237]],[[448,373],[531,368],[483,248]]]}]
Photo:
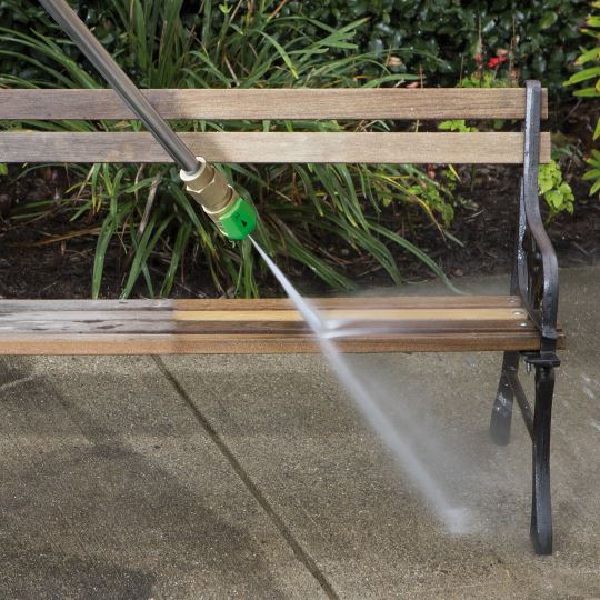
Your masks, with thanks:
[{"label": "entire grey-brown concrete patio under and around the bench", "polygon": [[429,454],[417,442],[469,509],[463,536],[319,356],[12,358],[0,366],[0,596],[600,598],[599,274],[562,273],[552,557],[528,538],[520,417],[510,446],[488,439],[500,354],[350,359],[389,391],[391,420],[412,414],[433,440]]}]

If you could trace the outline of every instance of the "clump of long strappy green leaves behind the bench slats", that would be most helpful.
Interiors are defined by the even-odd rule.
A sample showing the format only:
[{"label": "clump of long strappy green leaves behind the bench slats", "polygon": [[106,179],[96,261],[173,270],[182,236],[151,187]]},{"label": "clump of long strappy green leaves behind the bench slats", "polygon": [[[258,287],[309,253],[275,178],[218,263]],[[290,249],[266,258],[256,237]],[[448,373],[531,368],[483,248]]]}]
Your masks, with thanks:
[{"label": "clump of long strappy green leaves behind the bench slats", "polygon": [[[399,84],[416,79],[392,74],[371,53],[358,53],[352,39],[360,21],[332,29],[306,16],[281,17],[277,3],[217,4],[203,2],[194,23],[180,19],[182,0],[114,0],[106,10],[106,27],[118,38],[116,58],[143,88],[337,88]],[[216,27],[217,26],[217,27]],[[70,58],[70,42],[40,34],[0,30],[0,56],[29,63],[36,79],[0,77],[6,87],[103,87],[93,70]],[[336,50],[333,59],[331,51]],[[396,52],[402,56],[402,50]],[[138,131],[136,121],[4,123],[11,128],[58,131]],[[386,122],[337,121],[177,122],[178,131],[342,131],[386,130]],[[100,221],[92,293],[102,289],[104,258],[120,243],[127,259],[122,297],[140,280],[151,297],[168,296],[184,256],[203,260],[221,292],[254,297],[263,271],[248,242],[224,239],[184,193],[172,166],[71,166],[79,177],[61,202],[22,204],[19,218],[43,211],[69,211],[73,227],[90,234],[90,216]],[[309,268],[328,286],[350,290],[341,253],[364,271],[384,269],[394,283],[403,281],[393,247],[421,260],[446,281],[438,264],[399,233],[398,214],[418,207],[436,223],[450,192],[422,171],[404,166],[251,164],[222,167],[237,190],[257,204],[260,243],[276,257]],[[430,198],[434,197],[434,202]],[[441,199],[441,200],[440,200]],[[443,208],[443,207],[442,207]],[[84,222],[84,227],[78,223]],[[441,226],[439,226],[441,229]],[[73,236],[77,234],[77,230]],[[151,257],[168,262],[157,280]],[[338,257],[338,258],[336,258]],[[140,290],[137,289],[139,292]]]}]

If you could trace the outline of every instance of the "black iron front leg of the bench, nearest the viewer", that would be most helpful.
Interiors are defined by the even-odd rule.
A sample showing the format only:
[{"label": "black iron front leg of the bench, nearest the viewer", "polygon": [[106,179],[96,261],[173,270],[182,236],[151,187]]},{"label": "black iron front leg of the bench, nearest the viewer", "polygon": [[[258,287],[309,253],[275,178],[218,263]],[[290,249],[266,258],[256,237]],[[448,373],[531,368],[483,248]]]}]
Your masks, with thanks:
[{"label": "black iron front leg of the bench, nearest the viewer", "polygon": [[552,553],[552,504],[550,500],[550,421],[554,392],[554,368],[536,366],[533,414],[533,496],[531,540],[538,554]]}]

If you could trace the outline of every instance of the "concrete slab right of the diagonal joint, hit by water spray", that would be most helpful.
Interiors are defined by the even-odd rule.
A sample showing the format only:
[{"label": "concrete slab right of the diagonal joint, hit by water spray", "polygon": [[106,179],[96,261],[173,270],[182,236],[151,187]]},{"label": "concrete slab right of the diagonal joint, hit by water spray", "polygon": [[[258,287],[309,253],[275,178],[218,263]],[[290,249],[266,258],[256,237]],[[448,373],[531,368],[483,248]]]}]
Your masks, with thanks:
[{"label": "concrete slab right of the diagonal joint, hit by water spray", "polygon": [[[357,372],[396,393],[398,411],[427,414],[429,431],[446,433],[446,447],[461,457],[449,467],[451,491],[476,521],[464,537],[450,536],[428,510],[321,357],[169,357],[164,363],[340,597],[600,597],[594,274],[563,273],[562,320],[573,339],[558,377],[551,558],[536,557],[528,537],[531,447],[520,416],[509,447],[488,438],[500,354],[350,359]],[[464,287],[494,293],[506,281]],[[531,390],[532,377],[523,379]],[[393,402],[387,408],[401,418]]]}]

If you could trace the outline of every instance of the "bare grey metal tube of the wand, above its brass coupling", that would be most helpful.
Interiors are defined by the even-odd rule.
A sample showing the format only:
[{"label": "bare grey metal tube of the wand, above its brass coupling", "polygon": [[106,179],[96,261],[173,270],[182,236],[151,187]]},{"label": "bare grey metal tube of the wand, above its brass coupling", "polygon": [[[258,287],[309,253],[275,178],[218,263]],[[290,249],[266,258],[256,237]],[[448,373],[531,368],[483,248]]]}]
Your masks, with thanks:
[{"label": "bare grey metal tube of the wand, above its brass coupling", "polygon": [[198,172],[200,163],[192,151],[150,104],[104,47],[92,36],[66,0],[39,1],[179,167],[189,174]]}]

